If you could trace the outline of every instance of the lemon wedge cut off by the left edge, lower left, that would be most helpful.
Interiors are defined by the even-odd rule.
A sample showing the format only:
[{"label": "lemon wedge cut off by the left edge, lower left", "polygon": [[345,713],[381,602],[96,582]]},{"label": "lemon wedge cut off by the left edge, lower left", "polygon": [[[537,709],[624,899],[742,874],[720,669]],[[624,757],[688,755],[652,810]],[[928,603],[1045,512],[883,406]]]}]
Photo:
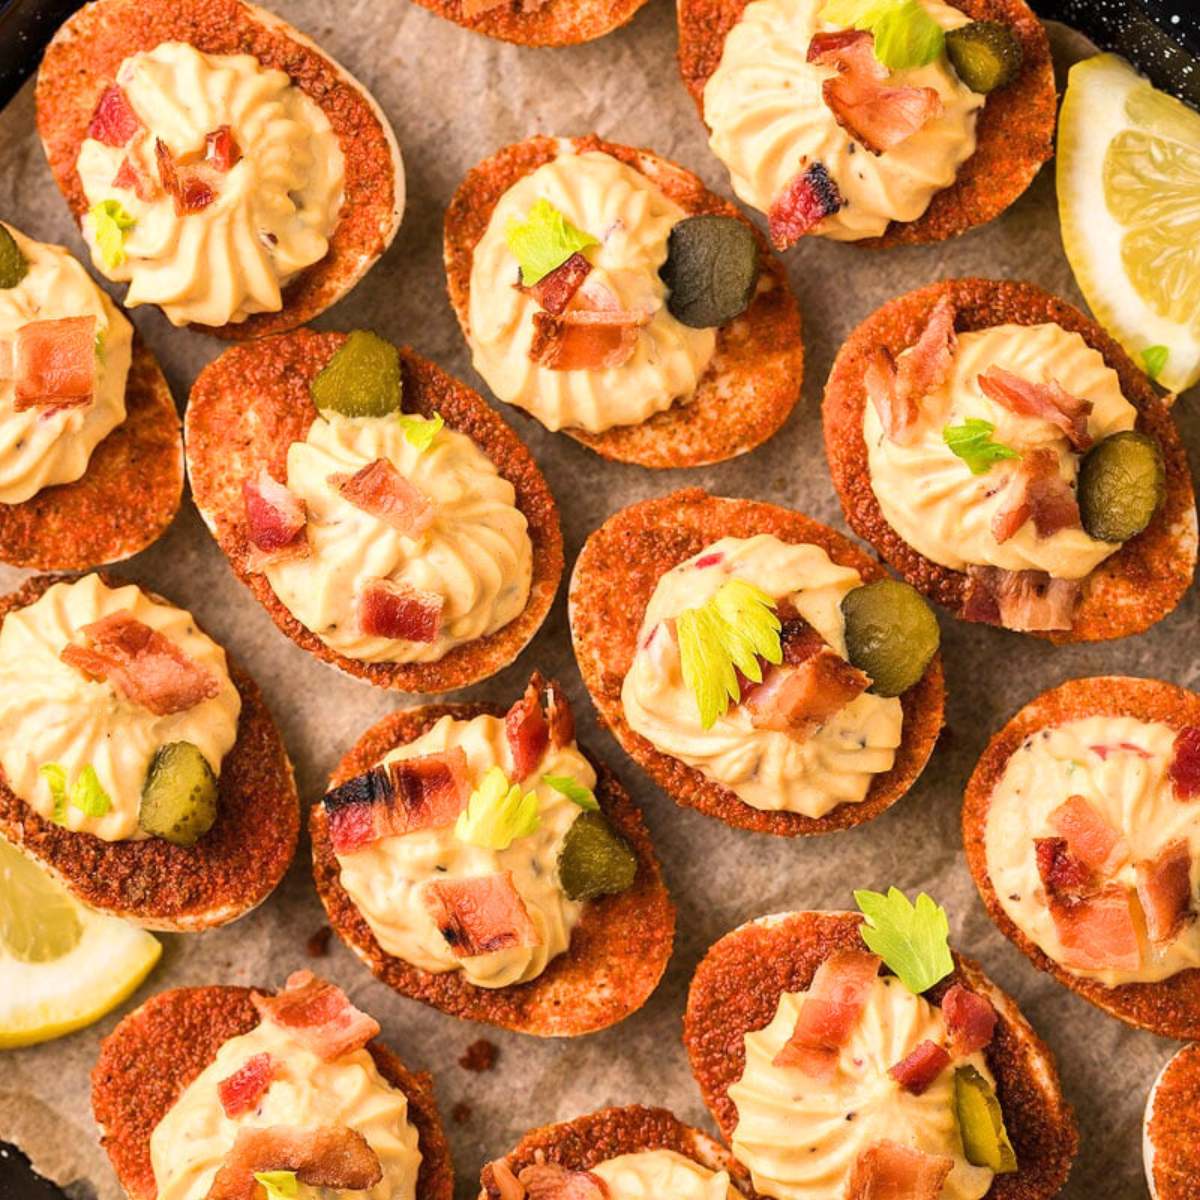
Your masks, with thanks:
[{"label": "lemon wedge cut off by the left edge, lower left", "polygon": [[161,954],[144,929],[83,907],[0,838],[0,1049],[100,1020]]}]

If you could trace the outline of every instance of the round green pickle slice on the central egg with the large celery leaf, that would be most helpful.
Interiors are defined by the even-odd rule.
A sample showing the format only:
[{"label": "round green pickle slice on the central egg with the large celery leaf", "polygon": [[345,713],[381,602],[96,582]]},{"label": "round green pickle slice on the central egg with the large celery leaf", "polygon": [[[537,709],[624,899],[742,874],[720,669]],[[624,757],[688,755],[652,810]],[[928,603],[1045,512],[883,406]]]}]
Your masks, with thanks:
[{"label": "round green pickle slice on the central egg with the large celery leaf", "polygon": [[941,631],[920,593],[899,580],[876,580],[841,601],[846,654],[871,677],[877,696],[899,696],[925,673]]}]

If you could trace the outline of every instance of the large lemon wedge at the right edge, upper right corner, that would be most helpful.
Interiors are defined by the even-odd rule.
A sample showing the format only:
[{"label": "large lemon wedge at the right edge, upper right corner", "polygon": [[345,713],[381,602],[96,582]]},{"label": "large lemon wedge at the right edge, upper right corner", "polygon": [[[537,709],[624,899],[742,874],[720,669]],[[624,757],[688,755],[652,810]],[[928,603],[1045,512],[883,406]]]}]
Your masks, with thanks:
[{"label": "large lemon wedge at the right edge, upper right corner", "polygon": [[1115,54],[1085,59],[1056,170],[1063,248],[1097,320],[1183,391],[1200,379],[1200,113]]}]

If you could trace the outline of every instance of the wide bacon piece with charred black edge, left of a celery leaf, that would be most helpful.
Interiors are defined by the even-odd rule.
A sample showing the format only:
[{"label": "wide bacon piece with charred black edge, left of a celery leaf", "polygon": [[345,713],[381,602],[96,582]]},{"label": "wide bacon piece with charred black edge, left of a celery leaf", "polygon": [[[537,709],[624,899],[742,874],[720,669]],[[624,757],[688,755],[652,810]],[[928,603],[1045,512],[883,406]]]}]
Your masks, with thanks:
[{"label": "wide bacon piece with charred black edge, left of a celery leaf", "polygon": [[325,793],[329,839],[335,853],[348,854],[383,838],[443,829],[455,822],[469,797],[470,774],[461,746],[400,758]]}]

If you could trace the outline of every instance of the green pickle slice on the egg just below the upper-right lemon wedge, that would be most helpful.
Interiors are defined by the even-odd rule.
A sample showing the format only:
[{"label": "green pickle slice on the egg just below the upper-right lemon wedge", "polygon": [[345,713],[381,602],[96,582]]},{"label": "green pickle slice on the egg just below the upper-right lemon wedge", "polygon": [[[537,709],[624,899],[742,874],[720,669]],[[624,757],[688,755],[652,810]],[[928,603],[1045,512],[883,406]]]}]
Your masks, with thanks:
[{"label": "green pickle slice on the egg just below the upper-right lemon wedge", "polygon": [[1099,541],[1128,541],[1141,533],[1165,492],[1163,452],[1135,430],[1097,442],[1079,468],[1079,515]]}]

